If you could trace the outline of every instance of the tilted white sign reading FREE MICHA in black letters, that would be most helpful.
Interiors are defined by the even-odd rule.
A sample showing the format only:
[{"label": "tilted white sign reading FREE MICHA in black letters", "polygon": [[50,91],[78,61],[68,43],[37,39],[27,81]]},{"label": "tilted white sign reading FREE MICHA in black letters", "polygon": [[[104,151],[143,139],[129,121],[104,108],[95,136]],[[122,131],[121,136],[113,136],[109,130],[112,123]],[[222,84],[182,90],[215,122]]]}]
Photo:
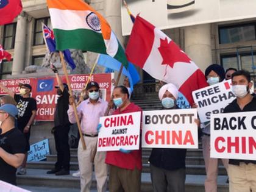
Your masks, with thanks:
[{"label": "tilted white sign reading FREE MICHA in black letters", "polygon": [[210,121],[211,114],[222,113],[224,108],[236,97],[232,92],[231,80],[226,80],[193,91],[194,102],[198,105],[201,123]]}]

